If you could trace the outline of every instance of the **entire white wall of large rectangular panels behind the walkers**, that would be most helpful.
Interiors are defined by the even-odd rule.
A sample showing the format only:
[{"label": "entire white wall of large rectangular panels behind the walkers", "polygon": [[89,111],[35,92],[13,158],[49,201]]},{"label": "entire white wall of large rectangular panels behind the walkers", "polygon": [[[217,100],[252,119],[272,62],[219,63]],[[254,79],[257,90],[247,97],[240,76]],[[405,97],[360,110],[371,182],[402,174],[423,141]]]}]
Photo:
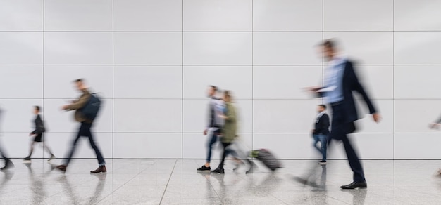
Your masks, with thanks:
[{"label": "entire white wall of large rectangular panels behind the walkers", "polygon": [[[340,39],[383,115],[356,96],[364,159],[436,159],[441,97],[437,0],[0,0],[1,143],[27,153],[32,106],[64,157],[75,135],[61,105],[87,79],[104,99],[94,133],[104,157],[205,157],[206,88],[232,90],[248,150],[309,159],[315,45]],[[431,143],[427,143],[431,142]],[[94,157],[87,141],[76,157]],[[340,145],[331,152],[344,158]],[[44,152],[39,149],[36,157]],[[218,157],[215,152],[215,157]]]}]

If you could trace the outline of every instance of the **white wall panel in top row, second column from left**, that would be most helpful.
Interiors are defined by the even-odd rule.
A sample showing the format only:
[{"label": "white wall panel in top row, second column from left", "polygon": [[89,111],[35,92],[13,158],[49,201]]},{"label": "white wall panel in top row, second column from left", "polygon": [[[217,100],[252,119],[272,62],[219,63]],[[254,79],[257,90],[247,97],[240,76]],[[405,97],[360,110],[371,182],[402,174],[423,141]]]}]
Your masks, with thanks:
[{"label": "white wall panel in top row, second column from left", "polygon": [[111,31],[112,0],[44,0],[46,31]]}]

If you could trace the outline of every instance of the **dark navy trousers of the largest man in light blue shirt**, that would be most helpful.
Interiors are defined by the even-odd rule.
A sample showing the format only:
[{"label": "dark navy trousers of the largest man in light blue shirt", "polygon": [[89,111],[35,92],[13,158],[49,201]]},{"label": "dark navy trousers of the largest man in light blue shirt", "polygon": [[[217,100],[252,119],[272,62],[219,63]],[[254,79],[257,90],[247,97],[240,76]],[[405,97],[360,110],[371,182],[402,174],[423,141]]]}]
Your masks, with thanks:
[{"label": "dark navy trousers of the largest man in light blue shirt", "polygon": [[[364,178],[363,167],[361,166],[359,157],[352,147],[349,138],[347,138],[348,133],[352,133],[355,130],[354,122],[347,122],[344,119],[345,110],[342,104],[340,105],[332,105],[333,107],[333,121],[331,124],[331,133],[329,135],[329,143],[332,140],[340,140],[344,145],[344,150],[346,151],[347,160],[349,161],[349,166],[354,172],[354,182],[364,182],[366,179]],[[329,144],[328,143],[328,144]]]}]

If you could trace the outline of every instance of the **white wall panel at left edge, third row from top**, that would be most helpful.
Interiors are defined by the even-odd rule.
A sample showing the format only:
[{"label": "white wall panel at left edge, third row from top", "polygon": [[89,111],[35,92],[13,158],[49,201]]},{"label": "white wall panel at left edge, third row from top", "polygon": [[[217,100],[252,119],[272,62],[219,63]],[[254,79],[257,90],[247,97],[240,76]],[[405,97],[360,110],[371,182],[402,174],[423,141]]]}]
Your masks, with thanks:
[{"label": "white wall panel at left edge, third row from top", "polygon": [[0,98],[42,98],[42,65],[0,66]]}]

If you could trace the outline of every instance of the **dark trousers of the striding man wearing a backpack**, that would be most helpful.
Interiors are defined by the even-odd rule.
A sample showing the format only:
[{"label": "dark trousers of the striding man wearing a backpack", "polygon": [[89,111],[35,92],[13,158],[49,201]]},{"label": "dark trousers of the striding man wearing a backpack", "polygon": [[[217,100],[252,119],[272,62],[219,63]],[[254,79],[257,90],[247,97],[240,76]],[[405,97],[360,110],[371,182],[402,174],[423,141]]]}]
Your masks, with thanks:
[{"label": "dark trousers of the striding man wearing a backpack", "polygon": [[92,124],[82,122],[80,126],[80,131],[78,131],[78,135],[73,140],[72,148],[70,148],[69,156],[66,159],[65,165],[67,166],[70,162],[70,160],[73,157],[73,153],[75,152],[75,149],[77,147],[77,142],[81,137],[87,137],[89,138],[89,143],[92,149],[94,149],[95,154],[97,154],[98,164],[99,166],[105,165],[106,161],[104,161],[103,155],[101,155],[101,152],[99,151],[99,148],[97,145],[95,145],[94,138],[92,137],[92,132],[90,131],[90,128],[92,127]]}]

